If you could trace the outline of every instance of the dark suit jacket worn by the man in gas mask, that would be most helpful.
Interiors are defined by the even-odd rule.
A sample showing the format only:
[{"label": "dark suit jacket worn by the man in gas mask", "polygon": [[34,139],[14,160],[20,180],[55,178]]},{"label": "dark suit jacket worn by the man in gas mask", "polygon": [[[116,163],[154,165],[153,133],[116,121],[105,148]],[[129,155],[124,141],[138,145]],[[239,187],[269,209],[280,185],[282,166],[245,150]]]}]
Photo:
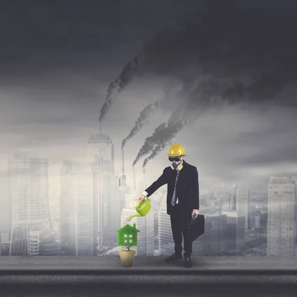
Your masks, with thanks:
[{"label": "dark suit jacket worn by the man in gas mask", "polygon": [[[173,210],[171,200],[176,175],[176,170],[172,170],[170,166],[166,167],[163,174],[145,190],[148,192],[147,196],[149,197],[161,186],[167,184],[167,214],[172,214]],[[195,166],[188,164],[185,160],[179,173],[176,194],[178,195],[178,203],[184,208],[185,213],[192,213],[193,209],[199,209],[198,171]]]}]

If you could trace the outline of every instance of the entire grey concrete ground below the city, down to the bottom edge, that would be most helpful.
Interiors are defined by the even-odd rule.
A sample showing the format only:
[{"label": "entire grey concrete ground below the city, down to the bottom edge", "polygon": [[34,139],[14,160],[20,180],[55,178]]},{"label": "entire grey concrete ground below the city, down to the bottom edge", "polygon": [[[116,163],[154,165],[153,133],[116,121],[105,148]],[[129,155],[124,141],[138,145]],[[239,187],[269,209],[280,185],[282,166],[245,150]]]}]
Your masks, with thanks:
[{"label": "entire grey concrete ground below the city, down to the bottom edge", "polygon": [[119,256],[0,256],[1,297],[297,296],[297,257],[193,256],[191,268],[164,258],[125,268]]}]

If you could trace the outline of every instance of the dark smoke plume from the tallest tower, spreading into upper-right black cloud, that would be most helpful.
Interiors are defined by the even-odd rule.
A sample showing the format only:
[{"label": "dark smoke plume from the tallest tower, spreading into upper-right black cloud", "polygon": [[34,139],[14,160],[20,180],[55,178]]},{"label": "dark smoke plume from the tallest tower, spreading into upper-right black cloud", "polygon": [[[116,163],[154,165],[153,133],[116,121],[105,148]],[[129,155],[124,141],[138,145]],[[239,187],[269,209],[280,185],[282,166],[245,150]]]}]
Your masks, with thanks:
[{"label": "dark smoke plume from the tallest tower, spreading into upper-right black cloud", "polygon": [[240,10],[231,0],[206,2],[207,13],[183,31],[158,34],[144,46],[141,55],[126,64],[119,79],[108,88],[100,121],[140,67],[147,73],[179,79],[185,75],[197,77],[199,67],[202,75],[234,81],[274,71],[296,60],[297,39],[288,34],[297,28],[293,14]]}]

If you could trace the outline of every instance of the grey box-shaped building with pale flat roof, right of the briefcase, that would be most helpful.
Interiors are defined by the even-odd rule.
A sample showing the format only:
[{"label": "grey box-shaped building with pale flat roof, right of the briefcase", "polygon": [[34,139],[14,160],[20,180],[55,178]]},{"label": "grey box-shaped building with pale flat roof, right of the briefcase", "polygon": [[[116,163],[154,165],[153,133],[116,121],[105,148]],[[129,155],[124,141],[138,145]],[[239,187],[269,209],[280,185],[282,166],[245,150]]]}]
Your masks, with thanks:
[{"label": "grey box-shaped building with pale flat roof, right of the briefcase", "polygon": [[245,247],[246,214],[243,211],[223,211],[227,216],[227,249],[239,251]]}]

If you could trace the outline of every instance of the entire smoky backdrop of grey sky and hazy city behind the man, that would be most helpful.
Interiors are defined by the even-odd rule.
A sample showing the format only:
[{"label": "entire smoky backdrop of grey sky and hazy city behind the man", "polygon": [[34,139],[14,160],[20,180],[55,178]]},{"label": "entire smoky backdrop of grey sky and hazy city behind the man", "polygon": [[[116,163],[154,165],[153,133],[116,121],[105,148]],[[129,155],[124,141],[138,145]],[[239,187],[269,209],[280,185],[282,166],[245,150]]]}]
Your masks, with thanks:
[{"label": "entire smoky backdrop of grey sky and hazy city behind the man", "polygon": [[118,256],[134,222],[136,255],[170,255],[166,185],[127,217],[173,143],[199,174],[193,255],[297,255],[289,4],[33,2],[0,18],[1,255]]}]

